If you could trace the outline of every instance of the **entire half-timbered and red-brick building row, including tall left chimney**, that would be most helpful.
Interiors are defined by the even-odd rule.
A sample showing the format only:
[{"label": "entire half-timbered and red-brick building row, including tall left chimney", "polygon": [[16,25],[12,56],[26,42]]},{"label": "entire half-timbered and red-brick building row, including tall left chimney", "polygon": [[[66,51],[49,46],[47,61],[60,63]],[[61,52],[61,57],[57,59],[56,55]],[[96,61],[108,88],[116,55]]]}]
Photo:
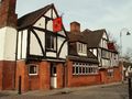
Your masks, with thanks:
[{"label": "entire half-timbered and red-brick building row, including tall left chimney", "polygon": [[0,90],[48,90],[121,80],[118,52],[105,30],[67,32],[54,4],[15,14],[0,1]]}]

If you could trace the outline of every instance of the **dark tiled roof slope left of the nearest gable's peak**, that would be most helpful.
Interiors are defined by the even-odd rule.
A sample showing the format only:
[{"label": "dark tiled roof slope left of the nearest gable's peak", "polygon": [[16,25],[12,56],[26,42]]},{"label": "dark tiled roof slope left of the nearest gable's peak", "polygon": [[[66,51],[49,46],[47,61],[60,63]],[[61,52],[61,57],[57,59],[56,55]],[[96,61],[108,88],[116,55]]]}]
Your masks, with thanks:
[{"label": "dark tiled roof slope left of the nearest gable's peak", "polygon": [[48,4],[40,10],[36,10],[34,12],[23,15],[22,18],[18,20],[18,29],[23,29],[23,28],[32,25],[34,22],[36,22],[36,20],[42,14],[44,14],[48,9],[51,9],[51,7],[53,7],[53,4]]}]

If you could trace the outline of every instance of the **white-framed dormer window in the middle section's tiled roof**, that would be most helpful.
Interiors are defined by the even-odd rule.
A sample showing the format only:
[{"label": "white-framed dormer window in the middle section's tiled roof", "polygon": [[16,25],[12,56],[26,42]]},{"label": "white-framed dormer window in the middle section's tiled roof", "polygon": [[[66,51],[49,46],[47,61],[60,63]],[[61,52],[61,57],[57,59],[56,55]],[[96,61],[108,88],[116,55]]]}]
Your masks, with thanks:
[{"label": "white-framed dormer window in the middle section's tiled roof", "polygon": [[87,54],[87,44],[77,42],[77,52],[78,52],[78,54],[86,55]]}]

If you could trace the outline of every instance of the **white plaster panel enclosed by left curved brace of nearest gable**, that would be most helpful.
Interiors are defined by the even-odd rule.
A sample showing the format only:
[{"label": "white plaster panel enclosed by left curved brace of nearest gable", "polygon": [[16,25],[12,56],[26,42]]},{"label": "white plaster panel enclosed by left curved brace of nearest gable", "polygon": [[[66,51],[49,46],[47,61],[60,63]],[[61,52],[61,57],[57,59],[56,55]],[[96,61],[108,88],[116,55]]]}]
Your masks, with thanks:
[{"label": "white plaster panel enclosed by left curved brace of nearest gable", "polygon": [[41,46],[33,33],[31,33],[31,41],[30,41],[30,54],[32,55],[43,55]]}]

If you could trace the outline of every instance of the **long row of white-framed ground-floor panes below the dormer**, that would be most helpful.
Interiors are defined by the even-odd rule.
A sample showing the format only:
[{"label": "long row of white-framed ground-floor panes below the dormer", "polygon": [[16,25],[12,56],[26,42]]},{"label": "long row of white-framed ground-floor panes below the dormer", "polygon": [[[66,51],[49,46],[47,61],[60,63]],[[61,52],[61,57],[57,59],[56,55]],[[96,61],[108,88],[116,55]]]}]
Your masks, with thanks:
[{"label": "long row of white-framed ground-floor panes below the dormer", "polygon": [[98,65],[90,63],[73,63],[73,75],[92,75],[98,74]]}]

